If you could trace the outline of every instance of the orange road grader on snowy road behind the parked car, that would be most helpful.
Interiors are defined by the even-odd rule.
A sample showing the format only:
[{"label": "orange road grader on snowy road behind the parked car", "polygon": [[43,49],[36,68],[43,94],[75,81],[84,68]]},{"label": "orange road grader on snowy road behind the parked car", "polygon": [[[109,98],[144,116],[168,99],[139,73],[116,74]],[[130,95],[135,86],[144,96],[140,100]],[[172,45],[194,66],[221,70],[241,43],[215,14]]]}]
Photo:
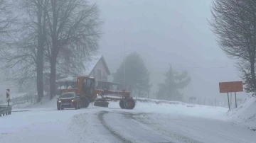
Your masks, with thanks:
[{"label": "orange road grader on snowy road behind the parked car", "polygon": [[[81,107],[87,108],[90,102],[94,102],[95,106],[108,107],[108,101],[119,101],[122,109],[133,109],[135,101],[128,91],[110,91],[95,89],[95,77],[78,76],[75,88],[61,89],[61,93],[75,92],[80,96]],[[118,95],[122,98],[107,97],[107,95]]]}]

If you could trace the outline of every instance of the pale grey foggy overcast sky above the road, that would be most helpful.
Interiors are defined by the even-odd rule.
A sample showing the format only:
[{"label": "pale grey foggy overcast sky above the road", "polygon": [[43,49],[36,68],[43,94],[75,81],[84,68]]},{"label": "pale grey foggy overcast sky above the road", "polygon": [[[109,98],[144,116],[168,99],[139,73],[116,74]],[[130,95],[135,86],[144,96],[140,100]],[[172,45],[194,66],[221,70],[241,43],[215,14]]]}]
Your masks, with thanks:
[{"label": "pale grey foggy overcast sky above the road", "polygon": [[122,62],[125,40],[126,54],[136,51],[144,59],[154,91],[164,81],[169,63],[191,75],[186,97],[226,99],[226,94],[219,93],[218,82],[241,80],[234,61],[220,50],[210,31],[211,0],[95,1],[105,21],[100,51],[111,72]]}]

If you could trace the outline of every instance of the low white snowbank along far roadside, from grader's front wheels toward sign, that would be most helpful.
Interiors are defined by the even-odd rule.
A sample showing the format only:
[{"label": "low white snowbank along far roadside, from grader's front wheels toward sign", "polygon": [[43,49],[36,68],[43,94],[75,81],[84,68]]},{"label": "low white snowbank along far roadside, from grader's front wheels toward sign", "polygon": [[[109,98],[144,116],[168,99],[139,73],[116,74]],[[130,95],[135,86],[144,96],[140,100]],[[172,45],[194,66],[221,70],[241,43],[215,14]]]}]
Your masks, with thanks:
[{"label": "low white snowbank along far roadside, from grader's front wheels toward sign", "polygon": [[[110,102],[109,108],[120,108],[119,101]],[[225,115],[228,108],[208,105],[191,105],[178,101],[162,101],[147,98],[137,98],[134,112],[156,113],[156,114],[180,114],[200,118],[211,118],[216,120],[228,120]]]}]

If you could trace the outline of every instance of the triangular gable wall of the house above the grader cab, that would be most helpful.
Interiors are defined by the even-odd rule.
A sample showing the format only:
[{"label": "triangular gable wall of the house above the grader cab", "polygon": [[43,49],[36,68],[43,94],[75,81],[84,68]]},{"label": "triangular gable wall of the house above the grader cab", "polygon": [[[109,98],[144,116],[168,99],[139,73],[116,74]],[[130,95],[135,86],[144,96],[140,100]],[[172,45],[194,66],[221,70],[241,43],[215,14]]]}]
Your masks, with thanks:
[{"label": "triangular gable wall of the house above the grader cab", "polygon": [[102,63],[102,59],[100,59],[99,62],[97,62],[95,68],[92,69],[92,72],[89,76],[95,76],[96,80],[107,81],[107,69],[105,69]]}]

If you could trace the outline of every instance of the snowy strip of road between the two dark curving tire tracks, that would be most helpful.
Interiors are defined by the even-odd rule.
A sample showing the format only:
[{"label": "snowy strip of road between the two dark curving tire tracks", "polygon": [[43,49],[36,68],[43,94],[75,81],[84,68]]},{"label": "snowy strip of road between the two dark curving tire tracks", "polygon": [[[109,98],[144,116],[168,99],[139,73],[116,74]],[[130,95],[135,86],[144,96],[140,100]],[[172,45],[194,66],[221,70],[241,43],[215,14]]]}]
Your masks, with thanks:
[{"label": "snowy strip of road between the two dark curving tire tracks", "polygon": [[143,125],[137,120],[127,116],[129,112],[109,112],[105,114],[104,120],[112,130],[118,131],[119,135],[130,142],[152,142],[152,143],[177,143],[176,139],[168,137],[160,132]]}]

